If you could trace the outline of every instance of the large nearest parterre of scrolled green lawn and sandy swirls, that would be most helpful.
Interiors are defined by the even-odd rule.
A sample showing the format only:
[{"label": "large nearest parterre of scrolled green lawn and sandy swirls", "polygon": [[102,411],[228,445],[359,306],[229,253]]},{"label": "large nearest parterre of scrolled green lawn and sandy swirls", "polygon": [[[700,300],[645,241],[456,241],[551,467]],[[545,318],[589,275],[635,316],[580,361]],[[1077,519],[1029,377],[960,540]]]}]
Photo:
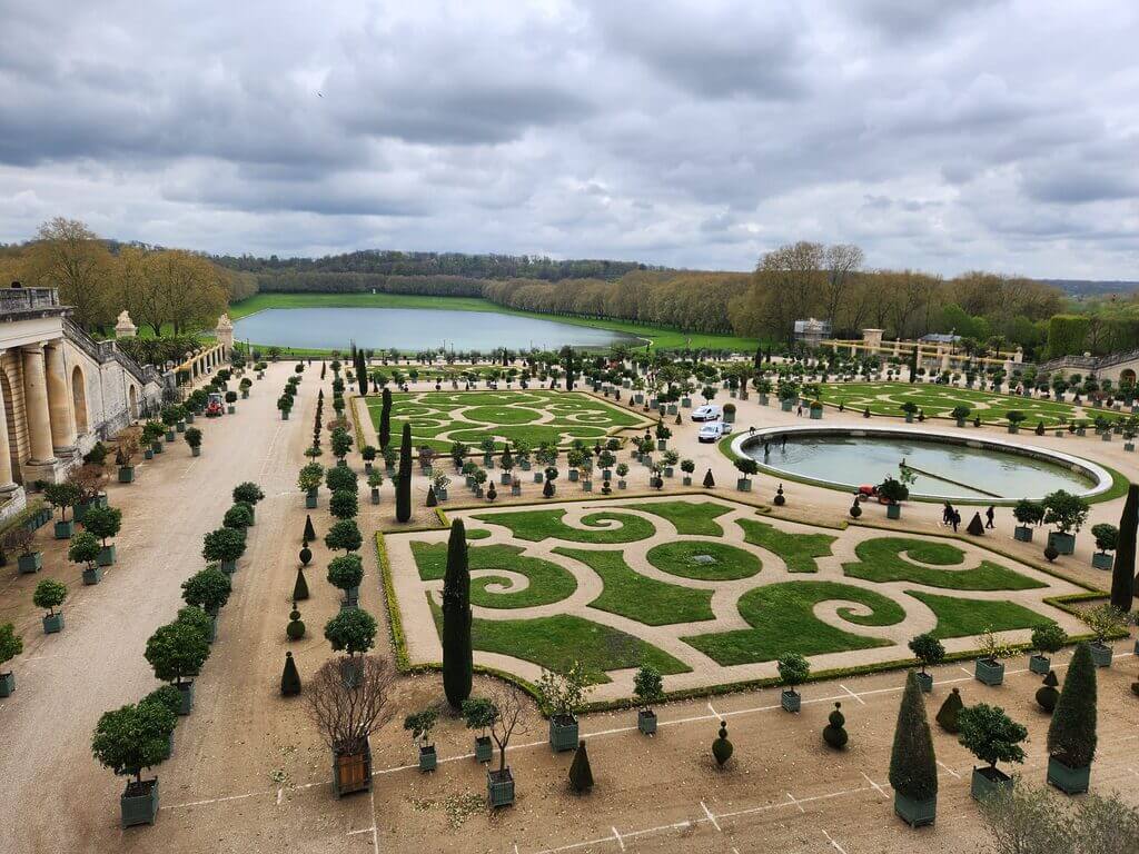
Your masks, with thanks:
[{"label": "large nearest parterre of scrolled green lawn and sandy swirls", "polygon": [[[1054,584],[1015,561],[981,559],[942,539],[862,539],[855,529],[760,522],[751,508],[707,499],[502,508],[465,518],[475,649],[544,667],[581,658],[595,682],[641,659],[679,673],[707,658],[734,667],[787,652],[896,646],[884,660],[906,660],[904,642],[883,630],[923,606],[940,638],[1031,629],[1057,614]],[[477,544],[487,532],[505,542]],[[446,543],[412,539],[410,547],[437,615]],[[851,552],[857,560],[835,557]],[[577,596],[598,584],[600,593]],[[724,585],[732,585],[727,599]],[[1018,601],[993,597],[1001,591]],[[513,610],[502,619],[489,610],[481,618],[478,609]],[[612,617],[603,614],[623,622],[606,625]],[[737,627],[740,618],[747,627]],[[674,644],[665,651],[653,634],[659,626],[674,627],[669,638],[707,658],[688,658]],[[710,684],[731,681],[721,675]]]}]

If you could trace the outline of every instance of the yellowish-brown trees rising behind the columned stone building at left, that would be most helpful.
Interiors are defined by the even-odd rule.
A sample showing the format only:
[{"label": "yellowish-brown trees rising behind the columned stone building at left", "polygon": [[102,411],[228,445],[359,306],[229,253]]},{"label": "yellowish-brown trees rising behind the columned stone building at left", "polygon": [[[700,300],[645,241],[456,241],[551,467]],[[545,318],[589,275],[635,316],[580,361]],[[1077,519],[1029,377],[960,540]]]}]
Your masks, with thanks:
[{"label": "yellowish-brown trees rising behind the columned stone building at left", "polygon": [[77,220],[56,217],[34,239],[0,251],[0,281],[58,288],[84,329],[109,335],[126,309],[139,327],[179,335],[212,323],[230,302],[256,293],[251,273],[200,253],[115,244]]}]

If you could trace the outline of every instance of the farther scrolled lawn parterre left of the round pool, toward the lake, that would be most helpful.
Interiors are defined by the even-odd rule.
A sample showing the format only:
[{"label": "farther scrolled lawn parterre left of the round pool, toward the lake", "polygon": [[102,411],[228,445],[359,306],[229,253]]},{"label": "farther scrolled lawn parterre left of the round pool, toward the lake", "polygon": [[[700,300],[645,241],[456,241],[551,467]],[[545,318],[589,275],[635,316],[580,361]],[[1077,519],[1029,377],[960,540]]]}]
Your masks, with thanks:
[{"label": "farther scrolled lawn parterre left of the round pool, toward the lake", "polygon": [[[379,430],[383,401],[366,399],[372,425]],[[574,440],[589,445],[621,430],[648,422],[588,394],[547,389],[526,392],[398,392],[392,395],[392,436],[411,425],[417,447],[427,445],[446,453],[453,442],[477,451],[486,436],[498,450],[507,442],[528,442],[536,447],[551,442],[568,447]]]}]

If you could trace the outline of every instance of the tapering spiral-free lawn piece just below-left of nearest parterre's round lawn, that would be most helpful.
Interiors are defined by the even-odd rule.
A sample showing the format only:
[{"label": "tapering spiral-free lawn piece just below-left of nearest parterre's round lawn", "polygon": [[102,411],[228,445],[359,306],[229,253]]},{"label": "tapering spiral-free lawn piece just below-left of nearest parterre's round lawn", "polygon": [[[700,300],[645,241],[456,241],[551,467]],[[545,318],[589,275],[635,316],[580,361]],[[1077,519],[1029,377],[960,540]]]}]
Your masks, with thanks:
[{"label": "tapering spiral-free lawn piece just below-left of nearest parterre's round lawn", "polygon": [[712,591],[666,584],[633,572],[620,551],[557,548],[556,555],[580,560],[601,576],[605,589],[590,608],[618,614],[645,625],[715,619]]}]

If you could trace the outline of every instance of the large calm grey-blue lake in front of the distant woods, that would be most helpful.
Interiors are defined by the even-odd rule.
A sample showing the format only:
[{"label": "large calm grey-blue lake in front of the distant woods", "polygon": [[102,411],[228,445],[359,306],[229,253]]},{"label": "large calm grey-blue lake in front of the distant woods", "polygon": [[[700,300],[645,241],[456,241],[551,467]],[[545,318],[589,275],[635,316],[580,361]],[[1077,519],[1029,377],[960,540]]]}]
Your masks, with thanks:
[{"label": "large calm grey-blue lake in front of the distant woods", "polygon": [[239,340],[280,347],[492,351],[607,347],[640,338],[608,329],[499,312],[449,309],[267,309],[233,323]]}]

